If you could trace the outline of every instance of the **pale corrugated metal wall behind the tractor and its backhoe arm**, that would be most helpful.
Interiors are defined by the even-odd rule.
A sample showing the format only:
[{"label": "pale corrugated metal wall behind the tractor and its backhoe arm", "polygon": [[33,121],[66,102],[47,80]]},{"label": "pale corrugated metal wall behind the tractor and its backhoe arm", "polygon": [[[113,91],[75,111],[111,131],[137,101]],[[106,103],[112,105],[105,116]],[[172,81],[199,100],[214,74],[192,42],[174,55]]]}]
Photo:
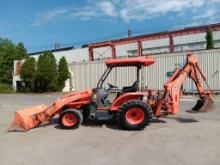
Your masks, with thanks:
[{"label": "pale corrugated metal wall behind the tractor and its backhoe arm", "polygon": [[[155,58],[156,63],[145,68],[145,86],[150,89],[163,89],[163,85],[168,79],[167,72],[173,71],[176,66],[183,66],[186,54],[184,52],[152,56]],[[202,66],[202,71],[207,76],[211,89],[220,90],[220,49],[195,51],[194,54]],[[95,87],[106,68],[103,61],[71,64],[69,67],[74,73],[73,80],[76,90]],[[136,72],[134,68],[125,67],[113,70],[106,81],[123,87],[131,85],[135,79]],[[205,86],[204,82],[203,85]],[[184,90],[187,92],[196,90],[194,83],[190,79],[184,82]]]}]

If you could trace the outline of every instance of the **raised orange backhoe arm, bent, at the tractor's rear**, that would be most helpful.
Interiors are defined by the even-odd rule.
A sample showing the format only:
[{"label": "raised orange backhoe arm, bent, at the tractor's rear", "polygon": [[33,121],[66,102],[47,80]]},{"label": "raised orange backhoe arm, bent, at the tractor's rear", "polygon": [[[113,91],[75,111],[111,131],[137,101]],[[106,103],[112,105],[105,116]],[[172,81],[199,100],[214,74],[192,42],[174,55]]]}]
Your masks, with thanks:
[{"label": "raised orange backhoe arm, bent, at the tractor's rear", "polygon": [[192,54],[188,54],[187,62],[183,68],[177,68],[172,77],[170,77],[164,85],[164,98],[162,99],[162,104],[158,107],[158,112],[161,108],[163,108],[168,114],[176,114],[179,111],[182,86],[187,77],[194,81],[200,97],[200,105],[197,103],[196,109],[202,108],[204,103],[207,104],[207,102],[212,102],[212,91],[210,89],[205,90],[201,83],[201,79],[206,81],[206,77],[202,73],[197,59]]}]

